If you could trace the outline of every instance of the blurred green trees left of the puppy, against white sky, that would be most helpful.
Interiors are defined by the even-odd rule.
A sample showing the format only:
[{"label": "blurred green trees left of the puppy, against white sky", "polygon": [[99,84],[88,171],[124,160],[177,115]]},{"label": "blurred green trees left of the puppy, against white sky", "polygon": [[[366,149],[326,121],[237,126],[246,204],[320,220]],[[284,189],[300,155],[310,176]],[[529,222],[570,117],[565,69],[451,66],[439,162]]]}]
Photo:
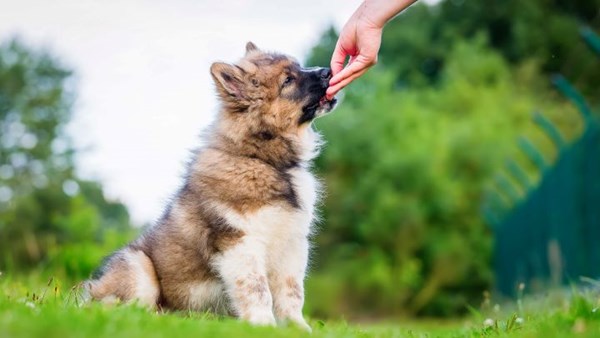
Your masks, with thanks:
[{"label": "blurred green trees left of the puppy, against white sky", "polygon": [[18,41],[0,45],[0,270],[43,263],[85,276],[106,254],[99,244],[114,247],[131,231],[125,206],[76,176],[64,130],[73,86],[49,54]]}]

